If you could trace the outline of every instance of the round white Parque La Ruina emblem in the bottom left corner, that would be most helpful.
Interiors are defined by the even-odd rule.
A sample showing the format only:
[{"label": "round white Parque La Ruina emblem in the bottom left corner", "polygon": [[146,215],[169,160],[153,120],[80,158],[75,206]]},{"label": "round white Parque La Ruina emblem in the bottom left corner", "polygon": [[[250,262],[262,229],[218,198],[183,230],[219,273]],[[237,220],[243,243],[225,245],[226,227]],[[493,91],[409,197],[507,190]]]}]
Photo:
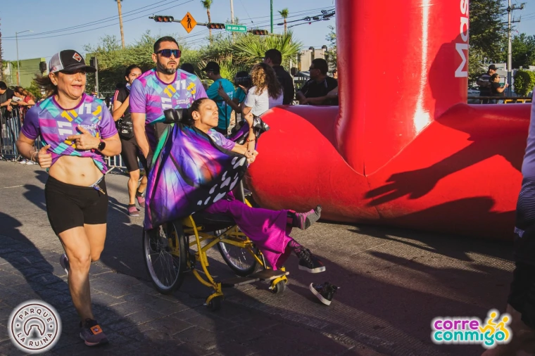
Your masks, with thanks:
[{"label": "round white Parque La Ruina emblem in the bottom left corner", "polygon": [[8,333],[19,350],[31,354],[46,352],[59,340],[61,319],[48,303],[27,300],[11,312]]}]

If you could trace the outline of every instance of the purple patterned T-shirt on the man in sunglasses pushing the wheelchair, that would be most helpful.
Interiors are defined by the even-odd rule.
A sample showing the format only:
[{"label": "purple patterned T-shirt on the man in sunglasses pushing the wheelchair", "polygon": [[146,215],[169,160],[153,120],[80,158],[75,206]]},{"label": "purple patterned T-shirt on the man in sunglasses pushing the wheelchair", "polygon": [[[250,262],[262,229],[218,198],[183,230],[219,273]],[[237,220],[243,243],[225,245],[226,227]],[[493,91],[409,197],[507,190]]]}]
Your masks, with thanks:
[{"label": "purple patterned T-shirt on the man in sunglasses pushing the wheelchair", "polygon": [[134,80],[130,89],[130,113],[146,114],[145,131],[151,149],[156,148],[156,136],[151,124],[163,122],[163,110],[189,108],[198,98],[206,98],[199,77],[184,70],[177,70],[175,80],[164,83],[156,69],[144,72]]}]

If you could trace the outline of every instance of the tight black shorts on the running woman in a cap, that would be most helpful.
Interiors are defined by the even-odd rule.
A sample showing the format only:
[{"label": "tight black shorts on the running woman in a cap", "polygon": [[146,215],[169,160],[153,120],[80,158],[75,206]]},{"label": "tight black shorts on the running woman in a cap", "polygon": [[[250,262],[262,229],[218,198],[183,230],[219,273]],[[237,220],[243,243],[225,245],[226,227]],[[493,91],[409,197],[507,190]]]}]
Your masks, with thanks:
[{"label": "tight black shorts on the running woman in a cap", "polygon": [[44,185],[44,198],[46,213],[56,235],[84,224],[106,224],[108,192],[104,179],[99,186],[106,194],[90,186],[75,186],[49,177]]}]

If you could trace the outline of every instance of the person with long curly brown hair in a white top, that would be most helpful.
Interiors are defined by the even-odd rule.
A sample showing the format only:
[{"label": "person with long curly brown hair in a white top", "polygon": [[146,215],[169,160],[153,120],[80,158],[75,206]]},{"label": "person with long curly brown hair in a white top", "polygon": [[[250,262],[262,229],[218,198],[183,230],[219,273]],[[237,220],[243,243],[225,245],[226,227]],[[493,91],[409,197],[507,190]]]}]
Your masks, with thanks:
[{"label": "person with long curly brown hair in a white top", "polygon": [[251,70],[253,86],[248,89],[242,115],[260,116],[270,108],[282,105],[284,91],[277,80],[275,70],[265,63],[258,63]]}]

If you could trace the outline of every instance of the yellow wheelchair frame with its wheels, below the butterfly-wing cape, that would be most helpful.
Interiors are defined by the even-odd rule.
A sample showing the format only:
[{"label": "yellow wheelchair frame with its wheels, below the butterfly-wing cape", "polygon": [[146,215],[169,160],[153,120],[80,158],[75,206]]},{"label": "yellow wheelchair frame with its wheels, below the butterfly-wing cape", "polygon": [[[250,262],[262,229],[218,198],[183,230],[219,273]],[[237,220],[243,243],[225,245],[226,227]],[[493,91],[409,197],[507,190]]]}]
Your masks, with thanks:
[{"label": "yellow wheelchair frame with its wheels, below the butterfly-wing cape", "polygon": [[[251,206],[246,200],[245,203]],[[208,295],[208,298],[206,298],[206,306],[210,310],[214,311],[219,310],[221,307],[221,302],[224,297],[222,291],[223,288],[240,286],[256,281],[267,281],[270,284],[269,289],[273,293],[278,294],[284,292],[286,289],[286,284],[288,283],[287,275],[289,272],[286,272],[284,267],[282,269],[277,269],[276,271],[270,267],[267,267],[262,253],[260,253],[259,250],[255,252],[253,241],[248,239],[248,237],[239,230],[237,224],[234,223],[230,227],[226,225],[226,228],[216,230],[222,231],[220,234],[208,234],[208,232],[206,232],[206,228],[210,228],[210,226],[198,224],[194,217],[195,215],[189,215],[189,217],[186,217],[181,221],[171,223],[173,231],[171,234],[167,234],[165,238],[164,236],[159,235],[161,239],[167,239],[167,241],[160,241],[160,249],[165,248],[174,258],[180,259],[177,279],[172,281],[172,284],[169,288],[161,288],[161,286],[158,286],[158,281],[156,281],[155,276],[152,273],[153,269],[151,272],[151,263],[153,262],[149,255],[145,254],[147,270],[151,276],[154,286],[156,286],[156,289],[158,289],[160,293],[172,293],[172,291],[175,291],[175,289],[182,284],[183,274],[185,272],[192,272],[196,279],[201,282],[201,284],[207,286],[208,288],[213,288],[213,293]],[[179,224],[182,225],[182,231],[178,231],[177,229],[177,225]],[[169,229],[169,227],[164,228],[164,230],[165,229]],[[189,236],[195,236],[194,241],[189,242]],[[146,242],[149,241],[147,239],[151,239],[151,237],[149,234],[144,233],[144,249],[146,252],[148,251],[147,248],[149,246]],[[182,239],[182,241],[180,239]],[[186,241],[188,242],[187,244],[185,243]],[[218,243],[225,243],[229,246],[235,246],[237,248],[246,250],[247,253],[254,258],[254,262],[249,268],[252,268],[253,265],[256,265],[257,267],[260,267],[261,270],[259,272],[254,272],[254,270],[257,268],[253,268],[253,273],[246,276],[242,274],[241,276],[232,279],[223,281],[215,280],[209,271],[210,263],[208,262],[207,253],[210,248],[215,247]],[[194,247],[196,247],[196,251],[191,249]],[[229,261],[223,255],[221,249],[220,252],[225,262],[227,262],[227,265],[230,266]],[[183,259],[185,260],[185,263],[182,261]],[[197,262],[200,263],[201,269],[196,269]],[[175,268],[174,265],[171,265],[171,267]],[[232,266],[230,267],[232,268]],[[234,272],[237,272],[235,268],[233,268]],[[160,281],[160,285],[161,283],[162,281]]]}]

